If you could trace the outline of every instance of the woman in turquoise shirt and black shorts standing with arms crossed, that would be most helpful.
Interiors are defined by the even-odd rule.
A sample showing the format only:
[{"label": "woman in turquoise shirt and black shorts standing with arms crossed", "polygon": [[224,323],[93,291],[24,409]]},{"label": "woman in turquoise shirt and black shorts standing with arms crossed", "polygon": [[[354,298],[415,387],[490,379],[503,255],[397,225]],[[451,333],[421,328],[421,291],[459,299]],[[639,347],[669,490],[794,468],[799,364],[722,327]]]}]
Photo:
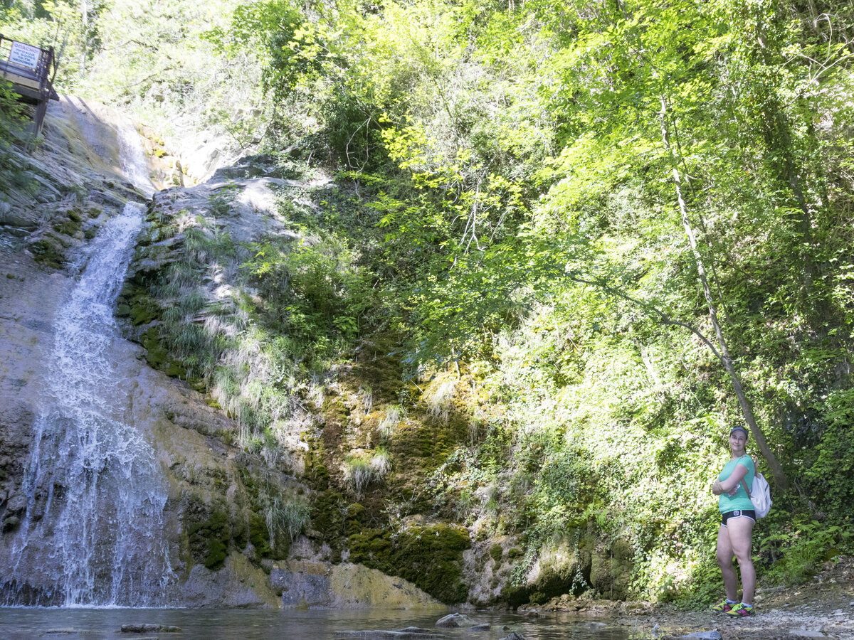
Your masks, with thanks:
[{"label": "woman in turquoise shirt and black shorts standing with arms crossed", "polygon": [[[751,555],[751,534],[756,523],[756,511],[745,487],[753,484],[756,466],[747,455],[747,429],[735,427],[729,432],[729,462],[711,486],[711,492],[719,496],[721,528],[717,532],[717,565],[721,567],[726,599],[714,607],[732,616],[747,616],[753,613],[753,592],[756,590],[756,571]],[[733,567],[733,556],[741,571],[741,602],[738,602],[738,576]]]}]

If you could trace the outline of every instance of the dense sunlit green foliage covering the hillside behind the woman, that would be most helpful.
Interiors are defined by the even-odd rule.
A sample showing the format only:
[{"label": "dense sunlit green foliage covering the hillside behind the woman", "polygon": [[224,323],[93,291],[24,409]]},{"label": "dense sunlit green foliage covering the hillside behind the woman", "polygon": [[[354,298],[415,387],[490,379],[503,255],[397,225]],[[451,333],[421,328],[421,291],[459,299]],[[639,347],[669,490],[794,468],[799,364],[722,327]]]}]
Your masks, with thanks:
[{"label": "dense sunlit green foliage covering the hillside behind the woman", "polygon": [[[247,442],[275,440],[295,380],[390,344],[413,383],[385,399],[390,422],[467,426],[416,510],[520,536],[518,580],[543,544],[595,521],[635,550],[633,593],[705,597],[710,474],[748,413],[769,444],[760,469],[779,463],[764,574],[804,579],[851,544],[851,7],[261,0],[230,23],[193,17],[169,23],[173,38],[156,12],[146,24],[164,47],[204,48],[208,69],[157,49],[172,67],[116,99],[174,108],[175,79],[186,101],[202,79],[257,82],[257,113],[219,124],[271,152],[310,149],[352,188],[283,203],[312,246],[242,254],[264,304],[244,300],[255,329],[240,339],[266,345],[282,395],[248,366],[228,373],[219,347],[202,374],[231,385],[232,409],[266,407]],[[121,39],[100,38],[80,45],[81,73]],[[213,102],[194,103],[196,124],[229,115]]]}]

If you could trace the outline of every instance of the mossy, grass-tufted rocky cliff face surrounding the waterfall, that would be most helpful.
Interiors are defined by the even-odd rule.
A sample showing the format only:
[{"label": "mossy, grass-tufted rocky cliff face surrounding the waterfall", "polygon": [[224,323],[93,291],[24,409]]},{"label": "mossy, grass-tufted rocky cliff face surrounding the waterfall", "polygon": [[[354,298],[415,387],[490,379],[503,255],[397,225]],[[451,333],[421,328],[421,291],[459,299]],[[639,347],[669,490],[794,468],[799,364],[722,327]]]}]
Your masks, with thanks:
[{"label": "mossy, grass-tufted rocky cliff face surrounding the waterfall", "polygon": [[[270,297],[290,272],[265,264],[265,252],[300,247],[297,257],[314,250],[329,264],[340,259],[334,239],[324,244],[293,219],[346,211],[338,185],[258,156],[192,186],[178,156],[137,129],[148,175],[136,184],[153,183],[141,191],[127,178],[138,167],[123,160],[127,126],[76,99],[52,105],[44,143],[19,154],[25,183],[0,198],[0,602],[73,601],[43,569],[66,535],[44,522],[67,514],[63,504],[76,494],[56,480],[65,476],[34,473],[32,460],[56,449],[59,436],[44,433],[76,427],[44,429],[44,416],[67,400],[52,382],[58,320],[85,269],[75,260],[126,201],[145,211],[110,303],[114,374],[97,383],[97,396],[152,452],[162,503],[152,537],[165,568],[155,584],[113,591],[117,603],[407,608],[628,595],[633,550],[600,539],[593,523],[536,549],[488,507],[443,501],[443,491],[465,493],[441,485],[450,452],[472,437],[462,381],[428,372],[426,401],[407,414],[392,343],[365,340],[351,361],[320,370],[295,336],[277,333]],[[149,199],[154,185],[170,189]],[[289,268],[298,275],[310,266]],[[84,469],[81,482],[87,473],[106,478],[108,467]],[[471,501],[483,507],[488,495]],[[108,515],[114,524],[97,536],[116,546],[138,523]],[[27,536],[38,545],[22,554]],[[110,557],[93,579],[120,584]]]}]

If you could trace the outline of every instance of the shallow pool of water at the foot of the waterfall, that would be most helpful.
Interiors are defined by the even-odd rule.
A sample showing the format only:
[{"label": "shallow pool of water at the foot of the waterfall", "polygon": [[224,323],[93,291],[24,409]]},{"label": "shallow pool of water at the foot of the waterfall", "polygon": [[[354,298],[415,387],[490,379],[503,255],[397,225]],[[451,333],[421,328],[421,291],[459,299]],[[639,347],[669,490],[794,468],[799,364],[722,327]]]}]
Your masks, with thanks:
[{"label": "shallow pool of water at the foot of the waterfall", "polygon": [[[392,631],[419,626],[441,633],[448,640],[498,640],[511,631],[526,640],[629,640],[629,630],[614,621],[590,620],[572,614],[521,615],[470,612],[488,631],[436,629],[442,614],[386,610],[266,611],[244,609],[87,609],[0,608],[0,638],[31,640],[342,640],[339,631]],[[121,633],[121,625],[147,623],[173,625],[180,633]]]}]

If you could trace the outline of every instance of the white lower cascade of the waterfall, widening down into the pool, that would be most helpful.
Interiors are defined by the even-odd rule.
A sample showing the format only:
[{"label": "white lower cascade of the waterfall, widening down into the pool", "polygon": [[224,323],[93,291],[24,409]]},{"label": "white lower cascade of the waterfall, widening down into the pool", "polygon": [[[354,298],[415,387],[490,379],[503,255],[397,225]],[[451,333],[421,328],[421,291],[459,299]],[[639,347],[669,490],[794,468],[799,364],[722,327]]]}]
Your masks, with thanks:
[{"label": "white lower cascade of the waterfall, widening down into the pool", "polygon": [[141,207],[128,203],[104,226],[57,315],[54,397],[35,425],[26,515],[4,567],[6,604],[165,604],[167,486],[154,451],[121,416],[129,398],[110,358],[114,301],[141,220]]}]

